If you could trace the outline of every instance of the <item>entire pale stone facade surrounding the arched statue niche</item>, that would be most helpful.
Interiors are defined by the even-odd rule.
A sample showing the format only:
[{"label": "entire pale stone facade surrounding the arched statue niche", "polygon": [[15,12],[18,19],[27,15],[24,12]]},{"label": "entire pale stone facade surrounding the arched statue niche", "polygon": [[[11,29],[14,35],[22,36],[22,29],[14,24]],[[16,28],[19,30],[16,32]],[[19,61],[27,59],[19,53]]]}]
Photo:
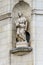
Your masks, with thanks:
[{"label": "entire pale stone facade surrounding the arched statue niche", "polygon": [[33,50],[23,56],[10,54],[15,47],[13,10],[19,0],[0,0],[0,65],[43,65],[43,0],[24,1],[31,9],[30,41]]}]

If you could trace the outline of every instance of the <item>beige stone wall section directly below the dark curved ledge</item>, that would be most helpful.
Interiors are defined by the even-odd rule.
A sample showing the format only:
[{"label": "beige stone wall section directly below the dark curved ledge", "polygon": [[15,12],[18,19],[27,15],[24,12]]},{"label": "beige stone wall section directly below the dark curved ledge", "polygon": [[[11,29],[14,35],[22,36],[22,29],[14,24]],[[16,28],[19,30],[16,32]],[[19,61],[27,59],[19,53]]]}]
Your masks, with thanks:
[{"label": "beige stone wall section directly below the dark curved ledge", "polygon": [[32,65],[32,52],[23,56],[11,55],[11,65]]}]

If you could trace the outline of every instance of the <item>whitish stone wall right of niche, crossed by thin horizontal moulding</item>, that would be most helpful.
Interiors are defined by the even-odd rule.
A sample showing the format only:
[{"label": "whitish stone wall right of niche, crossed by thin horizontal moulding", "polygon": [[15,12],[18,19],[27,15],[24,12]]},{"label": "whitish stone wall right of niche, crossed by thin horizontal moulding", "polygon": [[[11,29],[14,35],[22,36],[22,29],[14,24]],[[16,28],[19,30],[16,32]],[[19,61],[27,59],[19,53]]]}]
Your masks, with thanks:
[{"label": "whitish stone wall right of niche, crossed by thin horizontal moulding", "polygon": [[43,65],[43,0],[33,0],[34,65]]}]

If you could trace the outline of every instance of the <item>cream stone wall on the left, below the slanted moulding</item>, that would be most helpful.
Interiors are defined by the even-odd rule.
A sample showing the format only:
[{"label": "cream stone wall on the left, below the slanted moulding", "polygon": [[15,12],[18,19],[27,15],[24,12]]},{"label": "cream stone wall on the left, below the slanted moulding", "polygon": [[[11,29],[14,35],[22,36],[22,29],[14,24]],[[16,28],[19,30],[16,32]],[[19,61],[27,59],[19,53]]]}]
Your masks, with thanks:
[{"label": "cream stone wall on the left, below the slanted moulding", "polygon": [[10,18],[0,20],[0,65],[9,65],[12,46],[12,31]]}]

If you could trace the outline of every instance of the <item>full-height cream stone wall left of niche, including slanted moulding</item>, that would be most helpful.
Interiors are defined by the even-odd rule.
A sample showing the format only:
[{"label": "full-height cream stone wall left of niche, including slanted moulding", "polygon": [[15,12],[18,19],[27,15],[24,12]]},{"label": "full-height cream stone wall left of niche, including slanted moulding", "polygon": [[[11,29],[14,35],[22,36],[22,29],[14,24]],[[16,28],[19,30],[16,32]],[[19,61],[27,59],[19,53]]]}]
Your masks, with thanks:
[{"label": "full-height cream stone wall left of niche, including slanted moulding", "polygon": [[10,0],[0,0],[0,65],[10,64],[12,48],[12,24]]}]

